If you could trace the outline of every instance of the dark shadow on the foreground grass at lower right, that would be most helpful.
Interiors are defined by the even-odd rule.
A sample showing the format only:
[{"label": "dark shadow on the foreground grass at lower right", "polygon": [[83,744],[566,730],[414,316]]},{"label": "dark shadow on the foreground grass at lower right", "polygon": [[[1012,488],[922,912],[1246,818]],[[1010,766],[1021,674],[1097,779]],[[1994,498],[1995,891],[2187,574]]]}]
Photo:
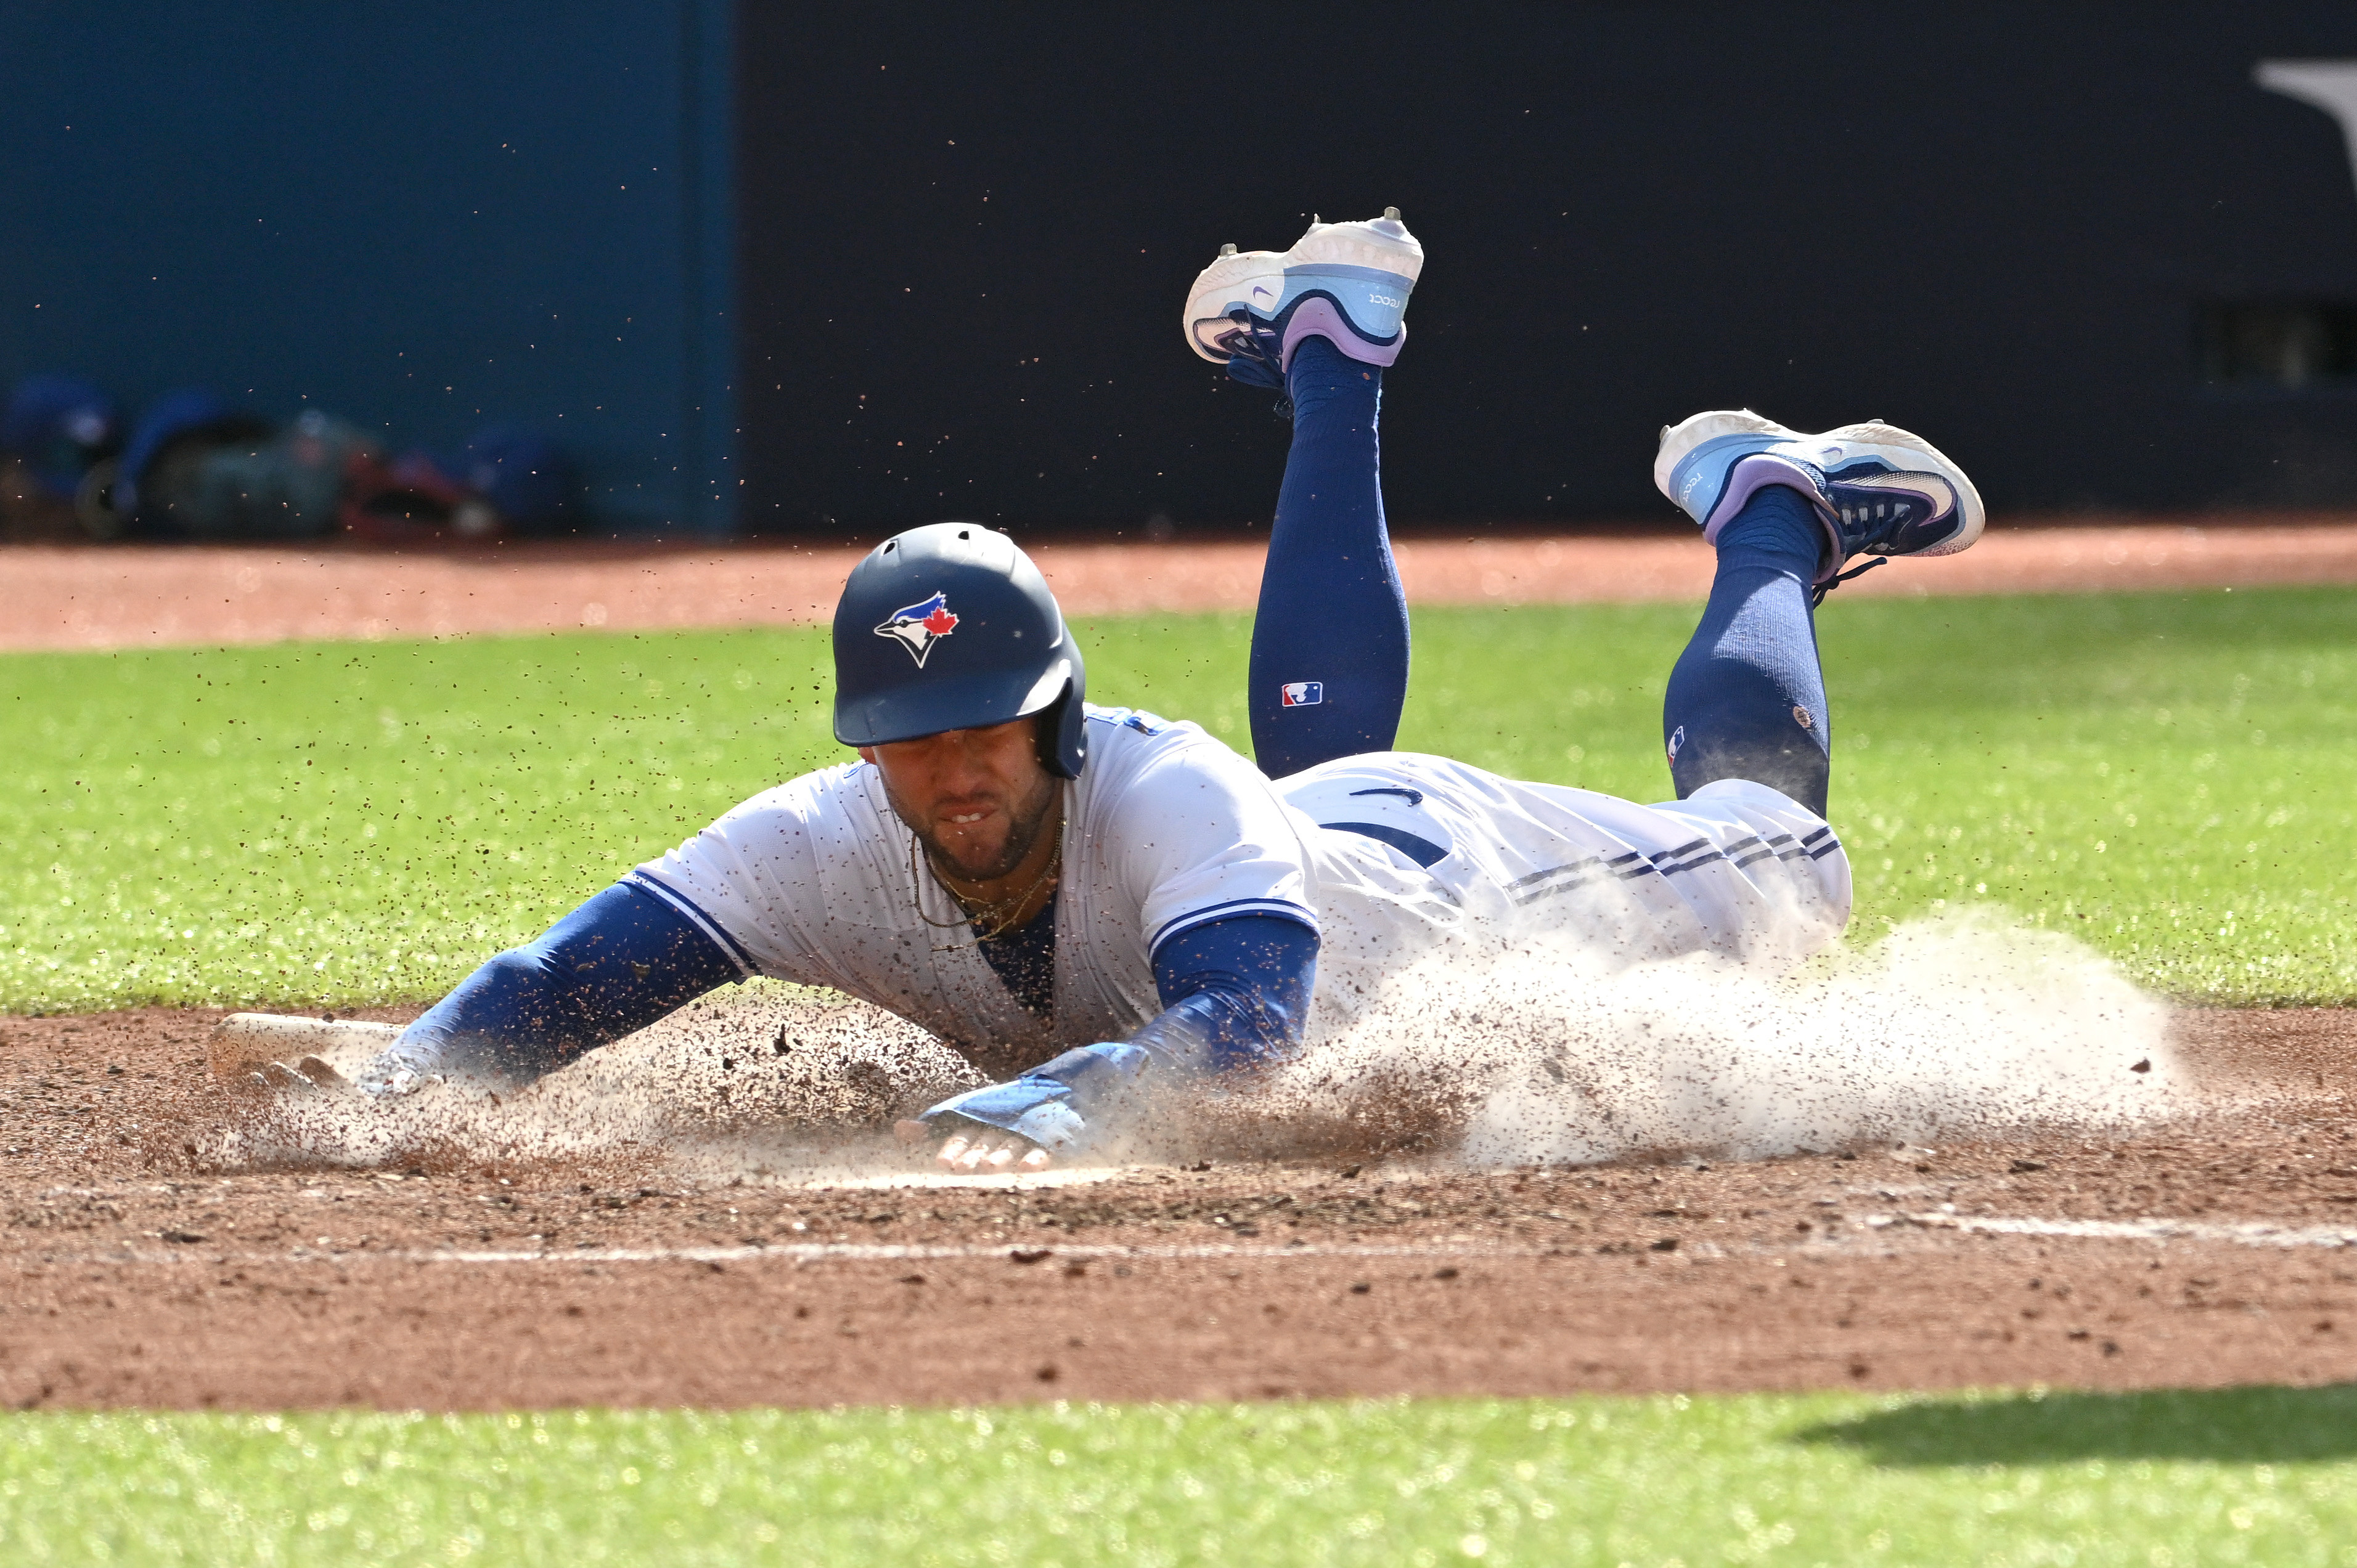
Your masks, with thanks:
[{"label": "dark shadow on the foreground grass at lower right", "polygon": [[1923,1398],[1791,1434],[1886,1469],[2190,1460],[2322,1464],[2357,1457],[2357,1384]]}]

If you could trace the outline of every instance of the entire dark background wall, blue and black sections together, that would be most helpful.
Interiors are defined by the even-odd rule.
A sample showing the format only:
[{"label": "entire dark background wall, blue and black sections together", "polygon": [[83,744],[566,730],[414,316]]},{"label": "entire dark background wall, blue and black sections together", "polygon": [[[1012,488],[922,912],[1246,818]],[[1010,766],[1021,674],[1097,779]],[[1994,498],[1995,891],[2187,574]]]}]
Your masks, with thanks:
[{"label": "entire dark background wall, blue and black sections together", "polygon": [[0,379],[540,424],[613,527],[1266,520],[1183,290],[1398,202],[1405,523],[1662,518],[1737,403],[1999,513],[2357,504],[2357,181],[2267,59],[2357,7],[24,0]]}]

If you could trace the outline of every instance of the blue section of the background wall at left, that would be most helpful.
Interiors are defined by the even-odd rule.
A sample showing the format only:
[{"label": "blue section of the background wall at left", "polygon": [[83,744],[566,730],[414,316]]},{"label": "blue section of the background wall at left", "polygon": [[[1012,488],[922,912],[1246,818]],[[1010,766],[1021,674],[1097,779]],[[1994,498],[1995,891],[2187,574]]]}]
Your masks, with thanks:
[{"label": "blue section of the background wall at left", "polygon": [[0,7],[0,384],[535,424],[728,527],[726,0]]}]

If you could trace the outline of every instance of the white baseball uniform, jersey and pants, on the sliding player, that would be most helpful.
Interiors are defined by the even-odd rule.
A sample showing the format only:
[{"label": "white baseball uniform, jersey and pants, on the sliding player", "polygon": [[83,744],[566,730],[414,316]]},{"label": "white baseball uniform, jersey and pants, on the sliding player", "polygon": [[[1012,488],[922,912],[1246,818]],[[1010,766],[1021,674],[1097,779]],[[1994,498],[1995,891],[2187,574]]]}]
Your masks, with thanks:
[{"label": "white baseball uniform, jersey and pants, on the sliding player", "polygon": [[1270,782],[1197,725],[1098,706],[1065,793],[1049,1017],[976,951],[867,763],[768,789],[629,881],[747,975],[846,991],[995,1074],[1131,1036],[1162,1010],[1155,949],[1242,913],[1320,932],[1315,1031],[1466,930],[1791,958],[1850,909],[1831,829],[1761,784],[1633,805],[1405,751]]}]

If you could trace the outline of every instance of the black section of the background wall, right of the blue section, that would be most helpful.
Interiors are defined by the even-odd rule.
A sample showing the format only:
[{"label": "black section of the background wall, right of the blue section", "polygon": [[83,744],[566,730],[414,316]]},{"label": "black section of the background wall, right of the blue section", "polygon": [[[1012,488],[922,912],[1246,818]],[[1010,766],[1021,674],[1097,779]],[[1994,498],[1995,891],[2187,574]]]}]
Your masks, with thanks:
[{"label": "black section of the background wall, right of the blue section", "polygon": [[1266,520],[1186,285],[1386,202],[1407,523],[1666,516],[1657,428],[1744,403],[1999,513],[2352,504],[2357,181],[2263,59],[2357,7],[747,5],[745,520]]}]

